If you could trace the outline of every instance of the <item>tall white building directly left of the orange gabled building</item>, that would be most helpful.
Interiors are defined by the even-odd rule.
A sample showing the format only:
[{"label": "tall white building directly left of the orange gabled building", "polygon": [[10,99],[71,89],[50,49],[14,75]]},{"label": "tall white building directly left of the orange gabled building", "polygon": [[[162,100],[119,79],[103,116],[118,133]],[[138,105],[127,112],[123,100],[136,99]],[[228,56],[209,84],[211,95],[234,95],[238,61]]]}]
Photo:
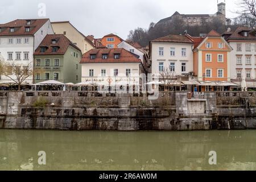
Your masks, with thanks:
[{"label": "tall white building directly left of the orange gabled building", "polygon": [[168,35],[150,42],[152,75],[166,69],[177,76],[193,72],[193,42],[185,35]]}]

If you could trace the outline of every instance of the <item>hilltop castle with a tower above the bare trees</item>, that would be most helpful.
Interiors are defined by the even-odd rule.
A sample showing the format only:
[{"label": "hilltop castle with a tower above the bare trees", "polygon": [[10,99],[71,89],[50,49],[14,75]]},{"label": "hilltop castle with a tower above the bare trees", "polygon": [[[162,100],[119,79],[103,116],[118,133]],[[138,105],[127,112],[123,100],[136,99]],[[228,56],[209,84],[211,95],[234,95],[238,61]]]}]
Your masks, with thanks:
[{"label": "hilltop castle with a tower above the bare trees", "polygon": [[232,23],[231,20],[226,18],[226,3],[221,2],[218,3],[217,6],[218,11],[215,14],[180,14],[176,11],[172,16],[160,20],[156,23],[156,26],[169,24],[176,18],[183,19],[188,26],[201,26],[202,24],[213,22],[214,18],[218,18],[222,20],[224,24],[230,25]]}]

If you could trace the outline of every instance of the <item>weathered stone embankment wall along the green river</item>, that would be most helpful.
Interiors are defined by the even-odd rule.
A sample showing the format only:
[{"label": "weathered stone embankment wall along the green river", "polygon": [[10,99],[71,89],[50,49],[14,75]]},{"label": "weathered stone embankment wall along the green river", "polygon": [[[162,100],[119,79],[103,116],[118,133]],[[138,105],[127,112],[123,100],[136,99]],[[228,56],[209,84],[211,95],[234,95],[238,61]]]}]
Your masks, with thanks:
[{"label": "weathered stone embankment wall along the green river", "polygon": [[256,129],[256,92],[0,92],[0,128],[57,130]]}]

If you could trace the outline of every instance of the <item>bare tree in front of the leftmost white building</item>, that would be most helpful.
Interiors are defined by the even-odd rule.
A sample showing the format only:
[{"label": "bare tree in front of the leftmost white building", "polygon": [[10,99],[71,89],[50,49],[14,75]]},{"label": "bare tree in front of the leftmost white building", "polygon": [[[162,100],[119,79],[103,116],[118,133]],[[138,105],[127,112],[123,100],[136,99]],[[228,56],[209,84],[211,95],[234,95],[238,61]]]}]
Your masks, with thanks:
[{"label": "bare tree in front of the leftmost white building", "polygon": [[33,76],[32,63],[28,63],[26,66],[17,65],[13,63],[7,63],[3,58],[0,59],[0,73],[6,76],[10,80],[14,81],[18,85],[18,90],[21,89],[21,85],[28,77]]}]

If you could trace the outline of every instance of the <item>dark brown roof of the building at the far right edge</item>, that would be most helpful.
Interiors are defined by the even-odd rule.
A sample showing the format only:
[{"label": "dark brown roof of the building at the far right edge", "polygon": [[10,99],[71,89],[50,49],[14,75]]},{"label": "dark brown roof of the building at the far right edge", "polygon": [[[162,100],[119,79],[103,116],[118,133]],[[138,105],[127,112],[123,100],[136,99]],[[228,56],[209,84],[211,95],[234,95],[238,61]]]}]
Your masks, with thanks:
[{"label": "dark brown roof of the building at the far right edge", "polygon": [[[240,33],[243,31],[249,32],[248,36],[241,35]],[[256,36],[253,34],[252,29],[247,27],[238,27],[227,40],[256,40]]]}]

